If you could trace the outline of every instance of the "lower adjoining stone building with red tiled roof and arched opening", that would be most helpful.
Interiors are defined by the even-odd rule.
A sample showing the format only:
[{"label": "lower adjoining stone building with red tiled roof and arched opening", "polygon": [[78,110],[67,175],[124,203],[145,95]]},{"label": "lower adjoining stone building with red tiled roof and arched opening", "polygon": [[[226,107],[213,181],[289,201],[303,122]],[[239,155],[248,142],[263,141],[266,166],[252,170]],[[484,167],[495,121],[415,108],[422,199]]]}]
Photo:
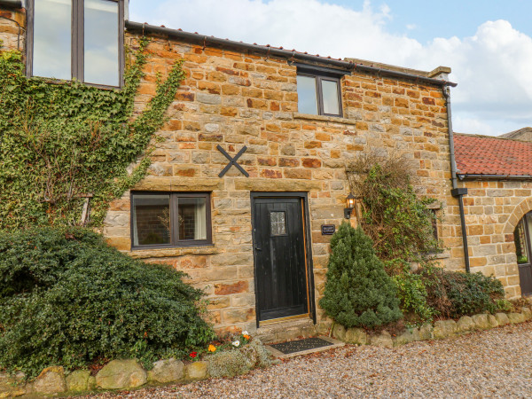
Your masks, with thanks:
[{"label": "lower adjoining stone building with red tiled roof and arched opening", "polygon": [[532,143],[463,134],[454,143],[471,270],[494,274],[512,297],[532,294]]}]

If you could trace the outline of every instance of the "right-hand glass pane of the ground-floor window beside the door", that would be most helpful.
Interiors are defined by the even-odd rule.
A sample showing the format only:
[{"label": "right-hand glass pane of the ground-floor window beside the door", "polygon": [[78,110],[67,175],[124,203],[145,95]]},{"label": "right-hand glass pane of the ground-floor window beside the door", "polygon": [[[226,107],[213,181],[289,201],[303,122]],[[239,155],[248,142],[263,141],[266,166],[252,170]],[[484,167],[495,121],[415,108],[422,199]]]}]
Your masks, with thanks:
[{"label": "right-hand glass pane of the ground-floor window beside the door", "polygon": [[180,198],[177,208],[179,239],[207,239],[207,200]]}]

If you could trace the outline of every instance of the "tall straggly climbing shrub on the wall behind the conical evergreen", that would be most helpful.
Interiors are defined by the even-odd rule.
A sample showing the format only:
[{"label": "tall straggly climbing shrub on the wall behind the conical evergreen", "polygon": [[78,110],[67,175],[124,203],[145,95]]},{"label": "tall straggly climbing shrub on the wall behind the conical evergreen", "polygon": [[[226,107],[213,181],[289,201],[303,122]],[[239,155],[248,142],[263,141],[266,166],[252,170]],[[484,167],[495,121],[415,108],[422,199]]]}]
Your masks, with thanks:
[{"label": "tall straggly climbing shrub on the wall behind the conical evergreen", "polygon": [[440,252],[434,237],[435,200],[419,197],[408,160],[364,153],[346,173],[352,192],[362,198],[361,219],[388,273],[401,273],[403,262],[427,262]]}]

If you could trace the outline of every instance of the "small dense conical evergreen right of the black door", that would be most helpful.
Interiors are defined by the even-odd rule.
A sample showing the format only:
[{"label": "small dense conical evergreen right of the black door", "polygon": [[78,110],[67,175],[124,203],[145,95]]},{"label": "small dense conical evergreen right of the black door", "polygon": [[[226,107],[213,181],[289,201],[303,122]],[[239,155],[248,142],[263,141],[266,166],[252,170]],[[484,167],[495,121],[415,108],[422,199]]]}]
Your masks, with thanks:
[{"label": "small dense conical evergreen right of the black door", "polygon": [[396,287],[362,229],[342,223],[331,239],[324,298],[329,317],[345,327],[375,327],[403,316]]}]

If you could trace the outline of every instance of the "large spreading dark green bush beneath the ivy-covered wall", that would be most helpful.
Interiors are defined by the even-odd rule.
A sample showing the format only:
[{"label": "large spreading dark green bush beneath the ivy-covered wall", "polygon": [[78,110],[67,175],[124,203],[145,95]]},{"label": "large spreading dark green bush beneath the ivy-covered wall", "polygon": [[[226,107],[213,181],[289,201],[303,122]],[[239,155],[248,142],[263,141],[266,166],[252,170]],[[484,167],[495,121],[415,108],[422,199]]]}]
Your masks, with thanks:
[{"label": "large spreading dark green bush beneath the ivy-covered wall", "polygon": [[146,264],[98,234],[0,232],[0,367],[35,375],[98,358],[182,356],[214,338],[183,273]]}]

